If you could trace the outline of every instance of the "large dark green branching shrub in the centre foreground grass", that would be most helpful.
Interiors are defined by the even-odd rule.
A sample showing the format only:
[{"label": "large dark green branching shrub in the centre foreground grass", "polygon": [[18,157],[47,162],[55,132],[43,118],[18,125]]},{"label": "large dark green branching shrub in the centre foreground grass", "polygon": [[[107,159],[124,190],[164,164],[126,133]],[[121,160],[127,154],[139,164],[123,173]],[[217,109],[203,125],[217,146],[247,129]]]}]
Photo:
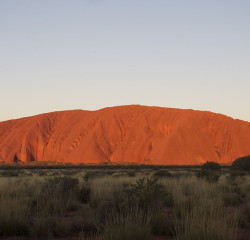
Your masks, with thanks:
[{"label": "large dark green branching shrub in the centre foreground grass", "polygon": [[101,202],[99,218],[105,224],[111,213],[118,219],[124,219],[132,211],[133,214],[139,212],[140,221],[146,223],[151,213],[172,205],[173,196],[163,184],[157,179],[142,178],[128,185],[124,191],[114,192],[112,199]]}]

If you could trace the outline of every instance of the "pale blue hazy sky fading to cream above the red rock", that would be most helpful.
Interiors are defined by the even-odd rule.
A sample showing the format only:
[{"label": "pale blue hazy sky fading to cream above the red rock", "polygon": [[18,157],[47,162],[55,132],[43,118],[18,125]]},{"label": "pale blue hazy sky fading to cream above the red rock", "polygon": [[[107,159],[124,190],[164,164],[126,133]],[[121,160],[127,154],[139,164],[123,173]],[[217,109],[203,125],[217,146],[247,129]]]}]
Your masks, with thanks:
[{"label": "pale blue hazy sky fading to cream above the red rock", "polygon": [[127,104],[250,121],[250,1],[0,0],[0,121]]}]

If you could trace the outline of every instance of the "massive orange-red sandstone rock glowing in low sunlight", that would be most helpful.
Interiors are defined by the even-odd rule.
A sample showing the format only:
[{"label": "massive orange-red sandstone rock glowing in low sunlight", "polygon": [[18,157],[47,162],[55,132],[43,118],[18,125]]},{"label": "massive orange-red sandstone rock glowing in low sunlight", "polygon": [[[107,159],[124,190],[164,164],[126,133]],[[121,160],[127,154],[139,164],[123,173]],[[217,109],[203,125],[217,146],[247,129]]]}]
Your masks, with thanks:
[{"label": "massive orange-red sandstone rock glowing in low sunlight", "polygon": [[250,154],[250,123],[139,105],[63,111],[0,123],[0,161],[196,165]]}]

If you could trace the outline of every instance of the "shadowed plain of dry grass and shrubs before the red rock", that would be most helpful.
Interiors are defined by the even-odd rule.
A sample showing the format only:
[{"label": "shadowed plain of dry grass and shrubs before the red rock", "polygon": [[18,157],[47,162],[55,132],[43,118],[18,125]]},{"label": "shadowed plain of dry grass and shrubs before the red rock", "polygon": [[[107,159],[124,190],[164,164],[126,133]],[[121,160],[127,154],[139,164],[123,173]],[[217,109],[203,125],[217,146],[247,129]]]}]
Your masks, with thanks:
[{"label": "shadowed plain of dry grass and shrubs before the red rock", "polygon": [[223,169],[0,170],[0,238],[239,240],[250,235],[250,176]]}]

